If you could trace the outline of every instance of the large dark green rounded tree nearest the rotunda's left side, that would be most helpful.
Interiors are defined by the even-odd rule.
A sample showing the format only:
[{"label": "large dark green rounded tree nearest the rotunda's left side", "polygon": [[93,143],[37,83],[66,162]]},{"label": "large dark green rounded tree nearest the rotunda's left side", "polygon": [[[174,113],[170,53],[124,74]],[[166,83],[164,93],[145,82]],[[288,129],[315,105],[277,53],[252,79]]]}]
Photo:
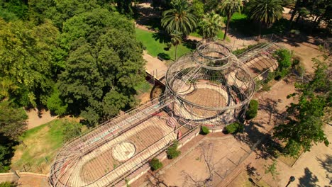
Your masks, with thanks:
[{"label": "large dark green rounded tree nearest the rotunda's left side", "polygon": [[133,106],[145,64],[133,23],[95,9],[67,20],[63,31],[69,56],[58,85],[69,111],[94,125]]}]

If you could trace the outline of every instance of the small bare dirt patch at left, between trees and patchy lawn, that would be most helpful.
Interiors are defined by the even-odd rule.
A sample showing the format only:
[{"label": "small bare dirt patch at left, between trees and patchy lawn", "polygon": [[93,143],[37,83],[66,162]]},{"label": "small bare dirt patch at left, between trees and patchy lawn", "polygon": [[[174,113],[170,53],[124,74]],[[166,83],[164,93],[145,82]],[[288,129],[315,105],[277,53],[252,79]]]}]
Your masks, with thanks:
[{"label": "small bare dirt patch at left, between trees and patchy lawn", "polygon": [[38,127],[57,118],[56,115],[51,115],[50,111],[45,111],[45,109],[38,111],[37,108],[32,108],[26,111],[26,114],[28,115],[28,129]]}]

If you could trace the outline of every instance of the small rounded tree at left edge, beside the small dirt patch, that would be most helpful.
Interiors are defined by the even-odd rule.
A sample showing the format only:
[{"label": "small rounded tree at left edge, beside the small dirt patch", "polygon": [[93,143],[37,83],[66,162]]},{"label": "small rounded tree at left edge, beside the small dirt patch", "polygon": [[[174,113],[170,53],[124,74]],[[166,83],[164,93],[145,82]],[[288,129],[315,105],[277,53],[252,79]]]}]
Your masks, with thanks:
[{"label": "small rounded tree at left edge, beside the small dirt patch", "polygon": [[17,140],[26,130],[26,119],[28,116],[23,108],[14,108],[9,101],[0,102],[0,133]]}]

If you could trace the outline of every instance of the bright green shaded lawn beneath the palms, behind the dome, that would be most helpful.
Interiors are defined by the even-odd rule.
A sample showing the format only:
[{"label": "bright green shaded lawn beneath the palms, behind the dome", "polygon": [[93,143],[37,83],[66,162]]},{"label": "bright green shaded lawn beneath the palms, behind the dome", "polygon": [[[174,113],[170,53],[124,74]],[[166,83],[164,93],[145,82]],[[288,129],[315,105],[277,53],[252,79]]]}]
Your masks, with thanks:
[{"label": "bright green shaded lawn beneath the palms, behind the dome", "polygon": [[[170,42],[168,35],[136,28],[136,38],[143,43],[149,55],[153,57],[169,55],[171,60],[175,60],[175,46],[172,46],[170,50],[166,50],[166,43]],[[177,47],[177,57],[191,52],[195,47],[196,45],[193,43],[183,42]]]}]

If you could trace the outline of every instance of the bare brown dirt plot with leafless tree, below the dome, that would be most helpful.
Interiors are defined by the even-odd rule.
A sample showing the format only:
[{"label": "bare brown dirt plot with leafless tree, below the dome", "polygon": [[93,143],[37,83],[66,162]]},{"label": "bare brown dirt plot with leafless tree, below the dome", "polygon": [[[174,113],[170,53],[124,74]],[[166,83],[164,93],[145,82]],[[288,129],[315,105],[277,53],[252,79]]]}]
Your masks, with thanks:
[{"label": "bare brown dirt plot with leafless tree, below the dome", "polygon": [[217,186],[249,151],[248,145],[233,136],[204,137],[194,149],[182,153],[181,159],[162,171],[161,177],[169,186],[194,186],[213,174],[209,184]]}]

